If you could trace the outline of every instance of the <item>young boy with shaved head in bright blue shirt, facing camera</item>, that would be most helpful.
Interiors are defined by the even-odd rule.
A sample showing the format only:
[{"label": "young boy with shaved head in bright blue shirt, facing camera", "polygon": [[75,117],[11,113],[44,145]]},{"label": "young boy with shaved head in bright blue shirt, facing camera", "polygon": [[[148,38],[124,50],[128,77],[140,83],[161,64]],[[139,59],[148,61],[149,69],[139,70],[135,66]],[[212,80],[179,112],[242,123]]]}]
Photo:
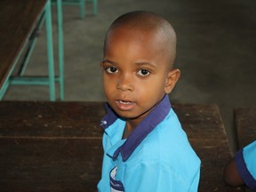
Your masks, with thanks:
[{"label": "young boy with shaved head in bright blue shirt, facing camera", "polygon": [[128,12],[108,28],[100,192],[197,191],[200,159],[167,95],[180,77],[175,54],[171,24],[153,12]]}]

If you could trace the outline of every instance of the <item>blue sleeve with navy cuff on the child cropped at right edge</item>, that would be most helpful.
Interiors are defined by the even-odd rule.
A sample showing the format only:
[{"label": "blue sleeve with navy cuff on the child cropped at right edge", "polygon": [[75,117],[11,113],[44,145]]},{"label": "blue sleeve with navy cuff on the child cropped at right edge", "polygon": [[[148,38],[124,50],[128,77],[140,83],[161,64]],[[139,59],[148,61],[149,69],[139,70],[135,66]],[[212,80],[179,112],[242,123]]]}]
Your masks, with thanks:
[{"label": "blue sleeve with navy cuff on the child cropped at right edge", "polygon": [[244,183],[256,190],[256,140],[236,153],[235,162]]}]

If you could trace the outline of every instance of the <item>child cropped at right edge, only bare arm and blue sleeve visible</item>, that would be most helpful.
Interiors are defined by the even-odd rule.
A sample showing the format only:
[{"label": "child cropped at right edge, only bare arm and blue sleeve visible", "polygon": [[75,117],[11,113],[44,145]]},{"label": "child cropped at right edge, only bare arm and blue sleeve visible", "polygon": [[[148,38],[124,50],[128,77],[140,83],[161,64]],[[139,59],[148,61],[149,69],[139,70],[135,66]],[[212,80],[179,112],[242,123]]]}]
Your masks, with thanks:
[{"label": "child cropped at right edge, only bare arm and blue sleeve visible", "polygon": [[227,164],[224,180],[230,186],[246,184],[256,191],[256,140],[236,153]]}]

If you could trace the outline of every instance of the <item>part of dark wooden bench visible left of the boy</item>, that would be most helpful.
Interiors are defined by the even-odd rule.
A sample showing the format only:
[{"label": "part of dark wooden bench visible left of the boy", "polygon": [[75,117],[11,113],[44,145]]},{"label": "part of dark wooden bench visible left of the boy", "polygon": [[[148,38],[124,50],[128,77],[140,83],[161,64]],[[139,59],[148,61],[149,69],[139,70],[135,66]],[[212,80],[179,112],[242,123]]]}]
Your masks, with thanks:
[{"label": "part of dark wooden bench visible left of the boy", "polygon": [[101,103],[0,102],[1,191],[95,191]]}]

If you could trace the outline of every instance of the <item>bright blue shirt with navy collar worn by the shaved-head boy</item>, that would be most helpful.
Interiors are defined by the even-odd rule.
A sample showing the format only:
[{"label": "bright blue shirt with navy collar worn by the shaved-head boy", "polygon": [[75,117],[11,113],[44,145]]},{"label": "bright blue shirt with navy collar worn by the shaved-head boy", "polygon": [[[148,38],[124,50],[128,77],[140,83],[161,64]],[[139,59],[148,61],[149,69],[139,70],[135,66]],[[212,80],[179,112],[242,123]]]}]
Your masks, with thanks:
[{"label": "bright blue shirt with navy collar worn by the shaved-head boy", "polygon": [[168,96],[122,140],[125,122],[108,108],[101,124],[103,164],[99,192],[196,192],[200,159]]}]

